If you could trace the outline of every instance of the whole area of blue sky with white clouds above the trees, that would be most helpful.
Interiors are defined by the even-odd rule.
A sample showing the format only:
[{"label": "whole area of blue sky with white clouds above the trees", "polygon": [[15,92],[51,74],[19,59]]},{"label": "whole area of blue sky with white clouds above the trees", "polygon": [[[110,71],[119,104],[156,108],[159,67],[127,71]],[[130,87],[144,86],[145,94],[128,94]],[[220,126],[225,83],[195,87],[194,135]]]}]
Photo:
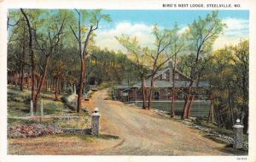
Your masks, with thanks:
[{"label": "whole area of blue sky with white clouds above the trees", "polygon": [[[180,33],[188,28],[188,25],[199,16],[206,17],[212,13],[211,10],[103,10],[103,14],[109,14],[112,21],[101,22],[96,31],[96,45],[108,47],[115,51],[122,50],[115,36],[122,34],[137,36],[142,46],[153,46],[154,36],[151,31],[153,25],[157,24],[163,28],[172,28],[175,22],[180,27]],[[220,10],[219,18],[224,21],[227,28],[224,34],[218,36],[213,44],[213,49],[226,45],[234,45],[241,39],[249,36],[249,11],[247,10]]]}]

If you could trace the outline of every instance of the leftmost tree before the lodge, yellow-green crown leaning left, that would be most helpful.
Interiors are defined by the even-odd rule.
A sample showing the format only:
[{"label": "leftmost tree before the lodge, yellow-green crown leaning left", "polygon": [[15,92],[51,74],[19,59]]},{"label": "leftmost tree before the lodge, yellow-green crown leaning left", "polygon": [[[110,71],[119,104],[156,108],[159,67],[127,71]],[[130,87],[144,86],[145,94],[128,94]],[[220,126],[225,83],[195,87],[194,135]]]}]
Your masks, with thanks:
[{"label": "leftmost tree before the lodge, yellow-green crown leaning left", "polygon": [[137,73],[142,82],[142,94],[143,94],[143,109],[146,109],[146,94],[145,94],[145,75],[147,75],[146,70],[146,54],[143,47],[139,46],[137,37],[130,38],[129,36],[122,35],[116,37],[116,39],[121,43],[125,49],[130,53],[130,59],[132,63],[137,67]]}]

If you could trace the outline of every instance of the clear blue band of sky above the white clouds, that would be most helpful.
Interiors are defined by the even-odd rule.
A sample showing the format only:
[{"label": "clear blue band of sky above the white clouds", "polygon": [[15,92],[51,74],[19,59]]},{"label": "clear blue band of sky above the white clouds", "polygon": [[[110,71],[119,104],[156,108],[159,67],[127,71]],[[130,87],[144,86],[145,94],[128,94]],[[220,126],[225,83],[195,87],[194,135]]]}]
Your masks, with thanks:
[{"label": "clear blue band of sky above the white clouds", "polygon": [[[187,25],[198,16],[204,17],[211,14],[211,10],[103,10],[104,14],[109,14],[113,20],[108,27],[124,21],[132,23],[143,23],[145,25],[158,24],[164,27],[170,27],[175,22],[179,25]],[[219,17],[246,19],[248,20],[249,12],[247,10],[220,10]],[[105,24],[105,23],[104,23]]]}]

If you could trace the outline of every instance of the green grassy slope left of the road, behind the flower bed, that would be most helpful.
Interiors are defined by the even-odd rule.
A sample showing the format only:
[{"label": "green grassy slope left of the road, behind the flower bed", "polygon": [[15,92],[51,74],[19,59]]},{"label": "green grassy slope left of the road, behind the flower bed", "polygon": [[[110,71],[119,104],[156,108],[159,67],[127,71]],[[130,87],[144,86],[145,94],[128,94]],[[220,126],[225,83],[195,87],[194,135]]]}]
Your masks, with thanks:
[{"label": "green grassy slope left of the road, behind the flower bed", "polygon": [[[20,91],[19,87],[8,86],[8,116],[9,117],[27,117],[30,116],[30,100],[31,92],[25,89]],[[41,102],[44,106],[44,115],[56,116],[79,116],[79,119],[63,119],[57,120],[54,118],[38,119],[14,119],[9,118],[9,126],[43,124],[46,126],[57,126],[58,128],[81,128],[84,129],[90,126],[90,118],[87,113],[80,114],[73,112],[73,107],[69,103],[55,101],[55,95],[50,92],[42,92],[38,101],[38,111],[34,115],[41,115]]]}]

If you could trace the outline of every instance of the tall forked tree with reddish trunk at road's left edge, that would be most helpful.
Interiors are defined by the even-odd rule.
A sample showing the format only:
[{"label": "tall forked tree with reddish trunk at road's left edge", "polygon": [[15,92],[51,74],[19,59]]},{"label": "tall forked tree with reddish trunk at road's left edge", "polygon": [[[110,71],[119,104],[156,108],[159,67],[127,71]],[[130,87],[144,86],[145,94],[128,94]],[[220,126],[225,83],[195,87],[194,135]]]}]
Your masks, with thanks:
[{"label": "tall forked tree with reddish trunk at road's left edge", "polygon": [[[108,14],[102,14],[101,10],[93,10],[91,12],[87,12],[85,10],[79,11],[75,9],[75,12],[78,14],[78,27],[76,32],[72,25],[70,25],[70,28],[73,32],[73,35],[76,37],[76,40],[79,43],[79,57],[80,57],[80,63],[81,63],[81,70],[80,70],[80,79],[79,79],[79,92],[78,92],[78,107],[77,112],[80,112],[81,109],[81,100],[82,100],[82,92],[84,88],[84,77],[85,77],[85,63],[86,59],[88,58],[89,51],[88,51],[88,45],[90,42],[90,38],[94,31],[98,29],[99,22],[101,20],[110,21],[110,17]],[[86,26],[82,26],[82,18],[89,20],[89,27],[86,28]],[[83,40],[82,36],[84,34],[85,39]],[[84,47],[83,47],[84,46]]]}]

